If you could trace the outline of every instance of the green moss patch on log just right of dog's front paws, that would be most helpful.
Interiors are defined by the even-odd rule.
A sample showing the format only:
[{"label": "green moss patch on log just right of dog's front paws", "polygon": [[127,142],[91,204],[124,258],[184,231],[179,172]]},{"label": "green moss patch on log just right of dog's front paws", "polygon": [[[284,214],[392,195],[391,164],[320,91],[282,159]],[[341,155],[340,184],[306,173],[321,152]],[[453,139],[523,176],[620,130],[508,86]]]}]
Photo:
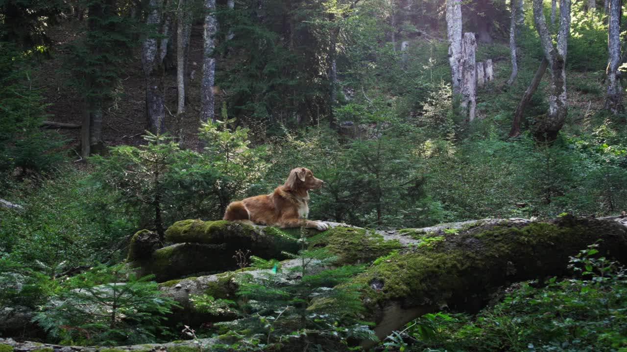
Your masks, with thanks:
[{"label": "green moss patch on log just right of dog's front paws", "polygon": [[338,265],[371,262],[402,247],[398,240],[385,241],[374,230],[354,227],[334,227],[315,237],[312,244],[337,255]]}]

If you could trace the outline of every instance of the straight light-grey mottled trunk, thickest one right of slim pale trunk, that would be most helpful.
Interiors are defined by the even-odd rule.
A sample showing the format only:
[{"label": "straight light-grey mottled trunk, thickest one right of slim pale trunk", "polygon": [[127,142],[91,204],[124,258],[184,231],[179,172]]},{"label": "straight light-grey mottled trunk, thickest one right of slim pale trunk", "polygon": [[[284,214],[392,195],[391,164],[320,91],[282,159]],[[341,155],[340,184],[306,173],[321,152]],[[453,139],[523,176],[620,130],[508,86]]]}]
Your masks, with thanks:
[{"label": "straight light-grey mottled trunk, thickest one right of slim pale trunk", "polygon": [[216,73],[216,59],[211,57],[214,49],[213,36],[216,34],[216,0],[204,0],[204,57],[203,80],[201,81],[201,111],[200,118],[203,122],[216,122],[214,115],[213,85]]}]

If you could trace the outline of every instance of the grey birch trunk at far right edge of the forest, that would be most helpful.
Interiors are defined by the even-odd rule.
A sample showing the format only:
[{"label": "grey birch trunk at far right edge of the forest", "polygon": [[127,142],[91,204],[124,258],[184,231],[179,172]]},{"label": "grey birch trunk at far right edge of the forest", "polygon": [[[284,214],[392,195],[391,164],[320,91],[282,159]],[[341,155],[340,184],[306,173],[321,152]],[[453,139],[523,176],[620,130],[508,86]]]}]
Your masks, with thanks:
[{"label": "grey birch trunk at far right edge of the forest", "polygon": [[620,38],[621,0],[609,0],[609,29],[608,29],[608,97],[606,108],[614,115],[623,111],[621,105],[621,85],[616,73],[621,63]]}]

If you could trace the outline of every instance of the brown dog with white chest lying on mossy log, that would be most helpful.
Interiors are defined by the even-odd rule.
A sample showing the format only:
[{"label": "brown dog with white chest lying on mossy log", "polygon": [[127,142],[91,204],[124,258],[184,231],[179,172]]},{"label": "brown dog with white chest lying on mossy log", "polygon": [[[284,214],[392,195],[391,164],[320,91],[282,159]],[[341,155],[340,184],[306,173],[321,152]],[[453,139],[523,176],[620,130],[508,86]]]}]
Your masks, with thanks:
[{"label": "brown dog with white chest lying on mossy log", "polygon": [[279,227],[311,227],[329,229],[322,221],[307,220],[309,215],[308,190],[319,189],[324,181],[316,179],[308,168],[297,167],[290,171],[287,181],[273,193],[256,195],[226,207],[224,220],[250,220],[255,224]]}]

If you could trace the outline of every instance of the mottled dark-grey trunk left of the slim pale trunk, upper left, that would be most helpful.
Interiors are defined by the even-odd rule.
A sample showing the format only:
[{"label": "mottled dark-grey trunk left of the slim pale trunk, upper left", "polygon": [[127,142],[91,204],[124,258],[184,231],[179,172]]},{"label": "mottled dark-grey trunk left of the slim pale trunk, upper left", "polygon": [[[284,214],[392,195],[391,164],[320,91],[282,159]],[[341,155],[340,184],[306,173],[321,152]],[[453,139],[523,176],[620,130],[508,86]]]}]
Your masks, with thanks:
[{"label": "mottled dark-grey trunk left of the slim pale trunk, upper left", "polygon": [[150,0],[146,23],[161,35],[149,36],[142,48],[142,66],[146,76],[147,127],[152,133],[162,133],[165,130],[163,60],[167,51],[169,23],[164,21],[163,6],[164,0]]}]

